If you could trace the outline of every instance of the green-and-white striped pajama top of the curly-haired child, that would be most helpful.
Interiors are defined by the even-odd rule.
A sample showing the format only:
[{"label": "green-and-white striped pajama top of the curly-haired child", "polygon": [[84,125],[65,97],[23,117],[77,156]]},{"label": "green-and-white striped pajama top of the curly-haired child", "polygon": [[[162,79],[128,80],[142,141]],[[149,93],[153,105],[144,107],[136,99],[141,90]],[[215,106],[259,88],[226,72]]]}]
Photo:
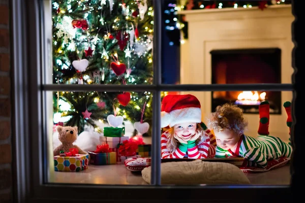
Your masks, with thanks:
[{"label": "green-and-white striped pajama top of the curly-haired child", "polygon": [[[241,139],[239,154],[237,156],[256,162],[262,167],[267,166],[267,160],[277,159],[279,157],[291,157],[292,147],[280,138],[273,136],[258,136],[257,138],[253,138],[243,134]],[[233,155],[236,156],[230,150],[216,147],[215,158],[226,158]]]}]

